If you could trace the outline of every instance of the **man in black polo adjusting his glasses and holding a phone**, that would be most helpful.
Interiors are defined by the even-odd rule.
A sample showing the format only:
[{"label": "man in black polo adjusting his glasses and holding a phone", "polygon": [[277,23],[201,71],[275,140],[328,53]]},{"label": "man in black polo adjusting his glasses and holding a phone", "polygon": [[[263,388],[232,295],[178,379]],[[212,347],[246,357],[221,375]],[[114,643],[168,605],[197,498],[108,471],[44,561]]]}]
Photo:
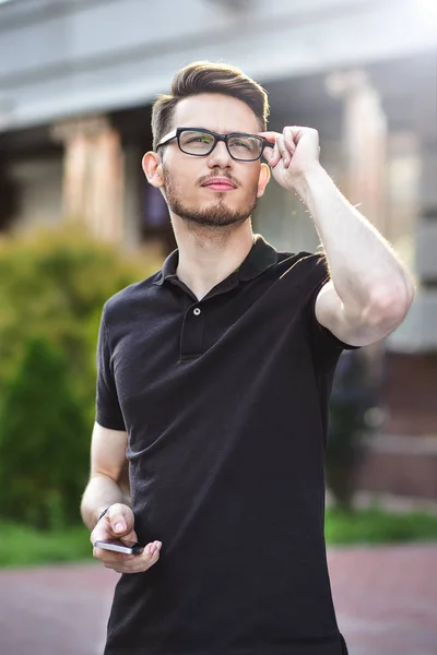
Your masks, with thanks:
[{"label": "man in black polo adjusting his glasses and holding a phone", "polygon": [[[143,169],[178,249],[102,318],[82,516],[92,543],[146,544],[94,549],[122,573],[106,655],[346,653],[323,536],[329,393],[342,349],[397,327],[414,287],[321,167],[317,131],[268,132],[267,115],[257,83],[208,62],[153,107]],[[270,171],[326,255],[252,235]]]}]

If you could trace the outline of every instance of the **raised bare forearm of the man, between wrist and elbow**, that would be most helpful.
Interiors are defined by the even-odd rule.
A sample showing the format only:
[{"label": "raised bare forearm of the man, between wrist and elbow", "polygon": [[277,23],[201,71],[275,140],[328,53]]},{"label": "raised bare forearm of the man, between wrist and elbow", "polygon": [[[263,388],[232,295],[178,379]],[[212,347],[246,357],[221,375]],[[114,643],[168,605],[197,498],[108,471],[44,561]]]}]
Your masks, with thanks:
[{"label": "raised bare forearm of the man, between wrist and elbow", "polygon": [[296,192],[312,216],[345,307],[361,311],[391,298],[411,302],[414,284],[394,251],[320,165],[300,178]]}]

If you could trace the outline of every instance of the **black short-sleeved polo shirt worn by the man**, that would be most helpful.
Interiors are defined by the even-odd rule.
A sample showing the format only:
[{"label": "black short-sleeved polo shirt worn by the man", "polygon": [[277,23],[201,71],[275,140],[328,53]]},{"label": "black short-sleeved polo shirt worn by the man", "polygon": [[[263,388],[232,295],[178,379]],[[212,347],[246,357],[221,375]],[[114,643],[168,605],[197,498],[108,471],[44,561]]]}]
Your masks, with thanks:
[{"label": "black short-sleeved polo shirt worn by the man", "polygon": [[126,430],[149,571],[121,575],[106,655],[340,655],[323,536],[328,402],[347,347],[315,317],[322,254],[261,236],[202,300],[161,272],[111,297],[96,420]]}]

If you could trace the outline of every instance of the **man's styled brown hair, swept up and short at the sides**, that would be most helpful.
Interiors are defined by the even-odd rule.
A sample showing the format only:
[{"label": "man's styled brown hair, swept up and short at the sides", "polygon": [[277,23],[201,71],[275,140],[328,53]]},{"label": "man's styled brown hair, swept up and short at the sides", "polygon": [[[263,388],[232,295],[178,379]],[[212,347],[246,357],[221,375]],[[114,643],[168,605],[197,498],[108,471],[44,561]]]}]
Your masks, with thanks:
[{"label": "man's styled brown hair, swept up and short at the sides", "polygon": [[269,98],[265,91],[240,69],[226,63],[194,61],[176,73],[170,94],[158,95],[152,108],[153,150],[172,130],[179,100],[201,93],[221,93],[246,103],[258,118],[261,131],[267,129]]}]

